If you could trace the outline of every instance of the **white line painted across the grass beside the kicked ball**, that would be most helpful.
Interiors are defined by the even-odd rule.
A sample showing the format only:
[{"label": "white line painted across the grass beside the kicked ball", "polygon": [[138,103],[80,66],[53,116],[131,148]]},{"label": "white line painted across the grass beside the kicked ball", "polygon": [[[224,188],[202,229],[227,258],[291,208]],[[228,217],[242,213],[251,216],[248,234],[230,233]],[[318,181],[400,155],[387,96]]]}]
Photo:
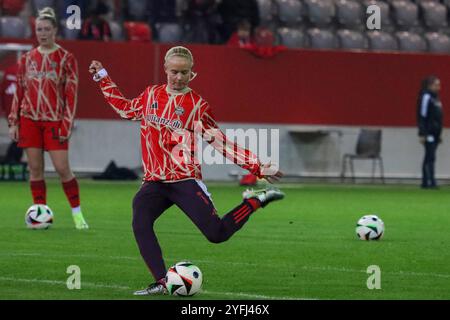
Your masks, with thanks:
[{"label": "white line painted across the grass beside the kicked ball", "polygon": [[[42,280],[42,279],[23,279],[23,278],[12,278],[12,277],[0,277],[0,282],[25,282],[25,283],[43,283],[50,285],[58,285],[58,286],[66,286],[66,282],[60,280]],[[127,290],[132,291],[132,288],[118,285],[108,285],[101,283],[92,283],[92,282],[81,282],[81,288],[90,287],[90,288],[106,288],[106,289],[114,289],[114,290]],[[220,296],[232,296],[232,297],[245,297],[245,298],[253,298],[253,299],[264,299],[264,300],[317,300],[312,298],[296,298],[296,297],[277,297],[277,296],[266,296],[260,294],[253,293],[244,293],[244,292],[216,292],[209,290],[202,290],[202,293],[212,294],[212,295],[220,295]],[[130,293],[131,295],[131,293]]]}]

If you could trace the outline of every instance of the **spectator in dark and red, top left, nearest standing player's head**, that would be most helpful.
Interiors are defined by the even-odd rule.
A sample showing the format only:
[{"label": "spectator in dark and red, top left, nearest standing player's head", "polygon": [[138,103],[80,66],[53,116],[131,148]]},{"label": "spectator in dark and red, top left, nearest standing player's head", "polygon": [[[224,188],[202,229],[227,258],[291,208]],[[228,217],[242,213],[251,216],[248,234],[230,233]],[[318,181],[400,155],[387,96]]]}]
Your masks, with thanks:
[{"label": "spectator in dark and red, top left, nearest standing player's head", "polygon": [[104,16],[109,13],[108,6],[99,1],[96,8],[91,12],[89,18],[84,20],[80,32],[80,39],[109,41],[111,39],[111,29]]}]

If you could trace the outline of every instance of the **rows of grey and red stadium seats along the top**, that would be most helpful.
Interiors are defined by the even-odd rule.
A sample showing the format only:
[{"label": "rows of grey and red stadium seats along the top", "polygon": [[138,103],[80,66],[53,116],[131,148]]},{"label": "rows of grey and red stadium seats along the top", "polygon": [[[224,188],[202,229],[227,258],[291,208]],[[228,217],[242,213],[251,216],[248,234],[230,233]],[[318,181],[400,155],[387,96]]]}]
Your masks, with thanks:
[{"label": "rows of grey and red stadium seats along the top", "polygon": [[[84,3],[88,8],[98,1],[4,0],[1,2],[0,35],[8,38],[33,36],[34,16],[39,8],[53,6],[65,23],[64,6]],[[289,48],[343,49],[371,51],[410,51],[450,53],[450,0],[242,0],[256,2],[259,26],[273,32],[276,44]],[[197,24],[186,19],[189,0],[160,1],[149,6],[141,0],[104,0],[110,9],[105,19],[113,41],[158,41],[163,43],[226,43],[206,35],[192,35],[194,28],[208,29],[218,24]],[[151,2],[151,1],[150,1]],[[204,1],[209,5],[227,0]],[[156,3],[156,2],[155,2]],[[171,14],[154,19],[154,12],[165,12],[161,3],[173,3]],[[381,9],[381,30],[368,30],[366,9]],[[153,13],[152,13],[153,10]],[[216,14],[217,12],[210,13]],[[208,17],[199,16],[201,21]],[[203,20],[202,20],[203,19]],[[206,19],[206,20],[205,20]],[[211,19],[209,19],[211,20]],[[222,22],[224,20],[222,19]],[[79,30],[60,28],[60,37],[78,39]],[[197,30],[198,34],[198,30]],[[210,39],[216,40],[210,40]]]}]

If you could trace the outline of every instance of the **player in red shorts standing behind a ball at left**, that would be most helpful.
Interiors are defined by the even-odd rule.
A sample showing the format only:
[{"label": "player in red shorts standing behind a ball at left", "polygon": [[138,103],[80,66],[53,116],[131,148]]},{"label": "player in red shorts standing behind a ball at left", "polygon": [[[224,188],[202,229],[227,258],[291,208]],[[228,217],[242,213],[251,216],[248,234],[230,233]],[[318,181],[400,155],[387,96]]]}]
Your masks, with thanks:
[{"label": "player in red shorts standing behind a ball at left", "polygon": [[11,139],[25,149],[35,204],[46,204],[44,151],[48,151],[72,207],[77,229],[88,229],[80,208],[78,182],[69,166],[69,138],[75,116],[78,67],[75,57],[55,43],[52,8],[36,19],[39,46],[19,60],[17,90],[8,116]]}]

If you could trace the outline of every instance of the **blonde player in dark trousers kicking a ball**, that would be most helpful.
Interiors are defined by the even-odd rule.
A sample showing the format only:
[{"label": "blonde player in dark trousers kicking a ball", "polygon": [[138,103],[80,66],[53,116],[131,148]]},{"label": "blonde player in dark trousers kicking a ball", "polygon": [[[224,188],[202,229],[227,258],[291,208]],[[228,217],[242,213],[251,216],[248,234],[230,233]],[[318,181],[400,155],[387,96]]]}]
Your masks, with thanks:
[{"label": "blonde player in dark trousers kicking a ball", "polygon": [[217,215],[201,181],[200,164],[193,156],[192,147],[188,147],[185,157],[180,156],[180,136],[186,138],[183,140],[186,147],[195,141],[199,132],[228,159],[271,183],[283,174],[270,164],[261,165],[250,151],[226,139],[208,103],[188,87],[195,76],[193,64],[187,48],[171,48],[164,64],[167,84],[151,85],[133,100],[122,95],[100,62],[92,61],[89,67],[111,107],[122,118],[141,121],[144,182],[133,199],[133,232],[156,282],[136,291],[135,295],[166,293],[166,266],[153,224],[173,204],[183,210],[209,241],[220,243],[241,229],[258,208],[284,197],[276,188],[247,190],[240,205],[222,218]]}]

